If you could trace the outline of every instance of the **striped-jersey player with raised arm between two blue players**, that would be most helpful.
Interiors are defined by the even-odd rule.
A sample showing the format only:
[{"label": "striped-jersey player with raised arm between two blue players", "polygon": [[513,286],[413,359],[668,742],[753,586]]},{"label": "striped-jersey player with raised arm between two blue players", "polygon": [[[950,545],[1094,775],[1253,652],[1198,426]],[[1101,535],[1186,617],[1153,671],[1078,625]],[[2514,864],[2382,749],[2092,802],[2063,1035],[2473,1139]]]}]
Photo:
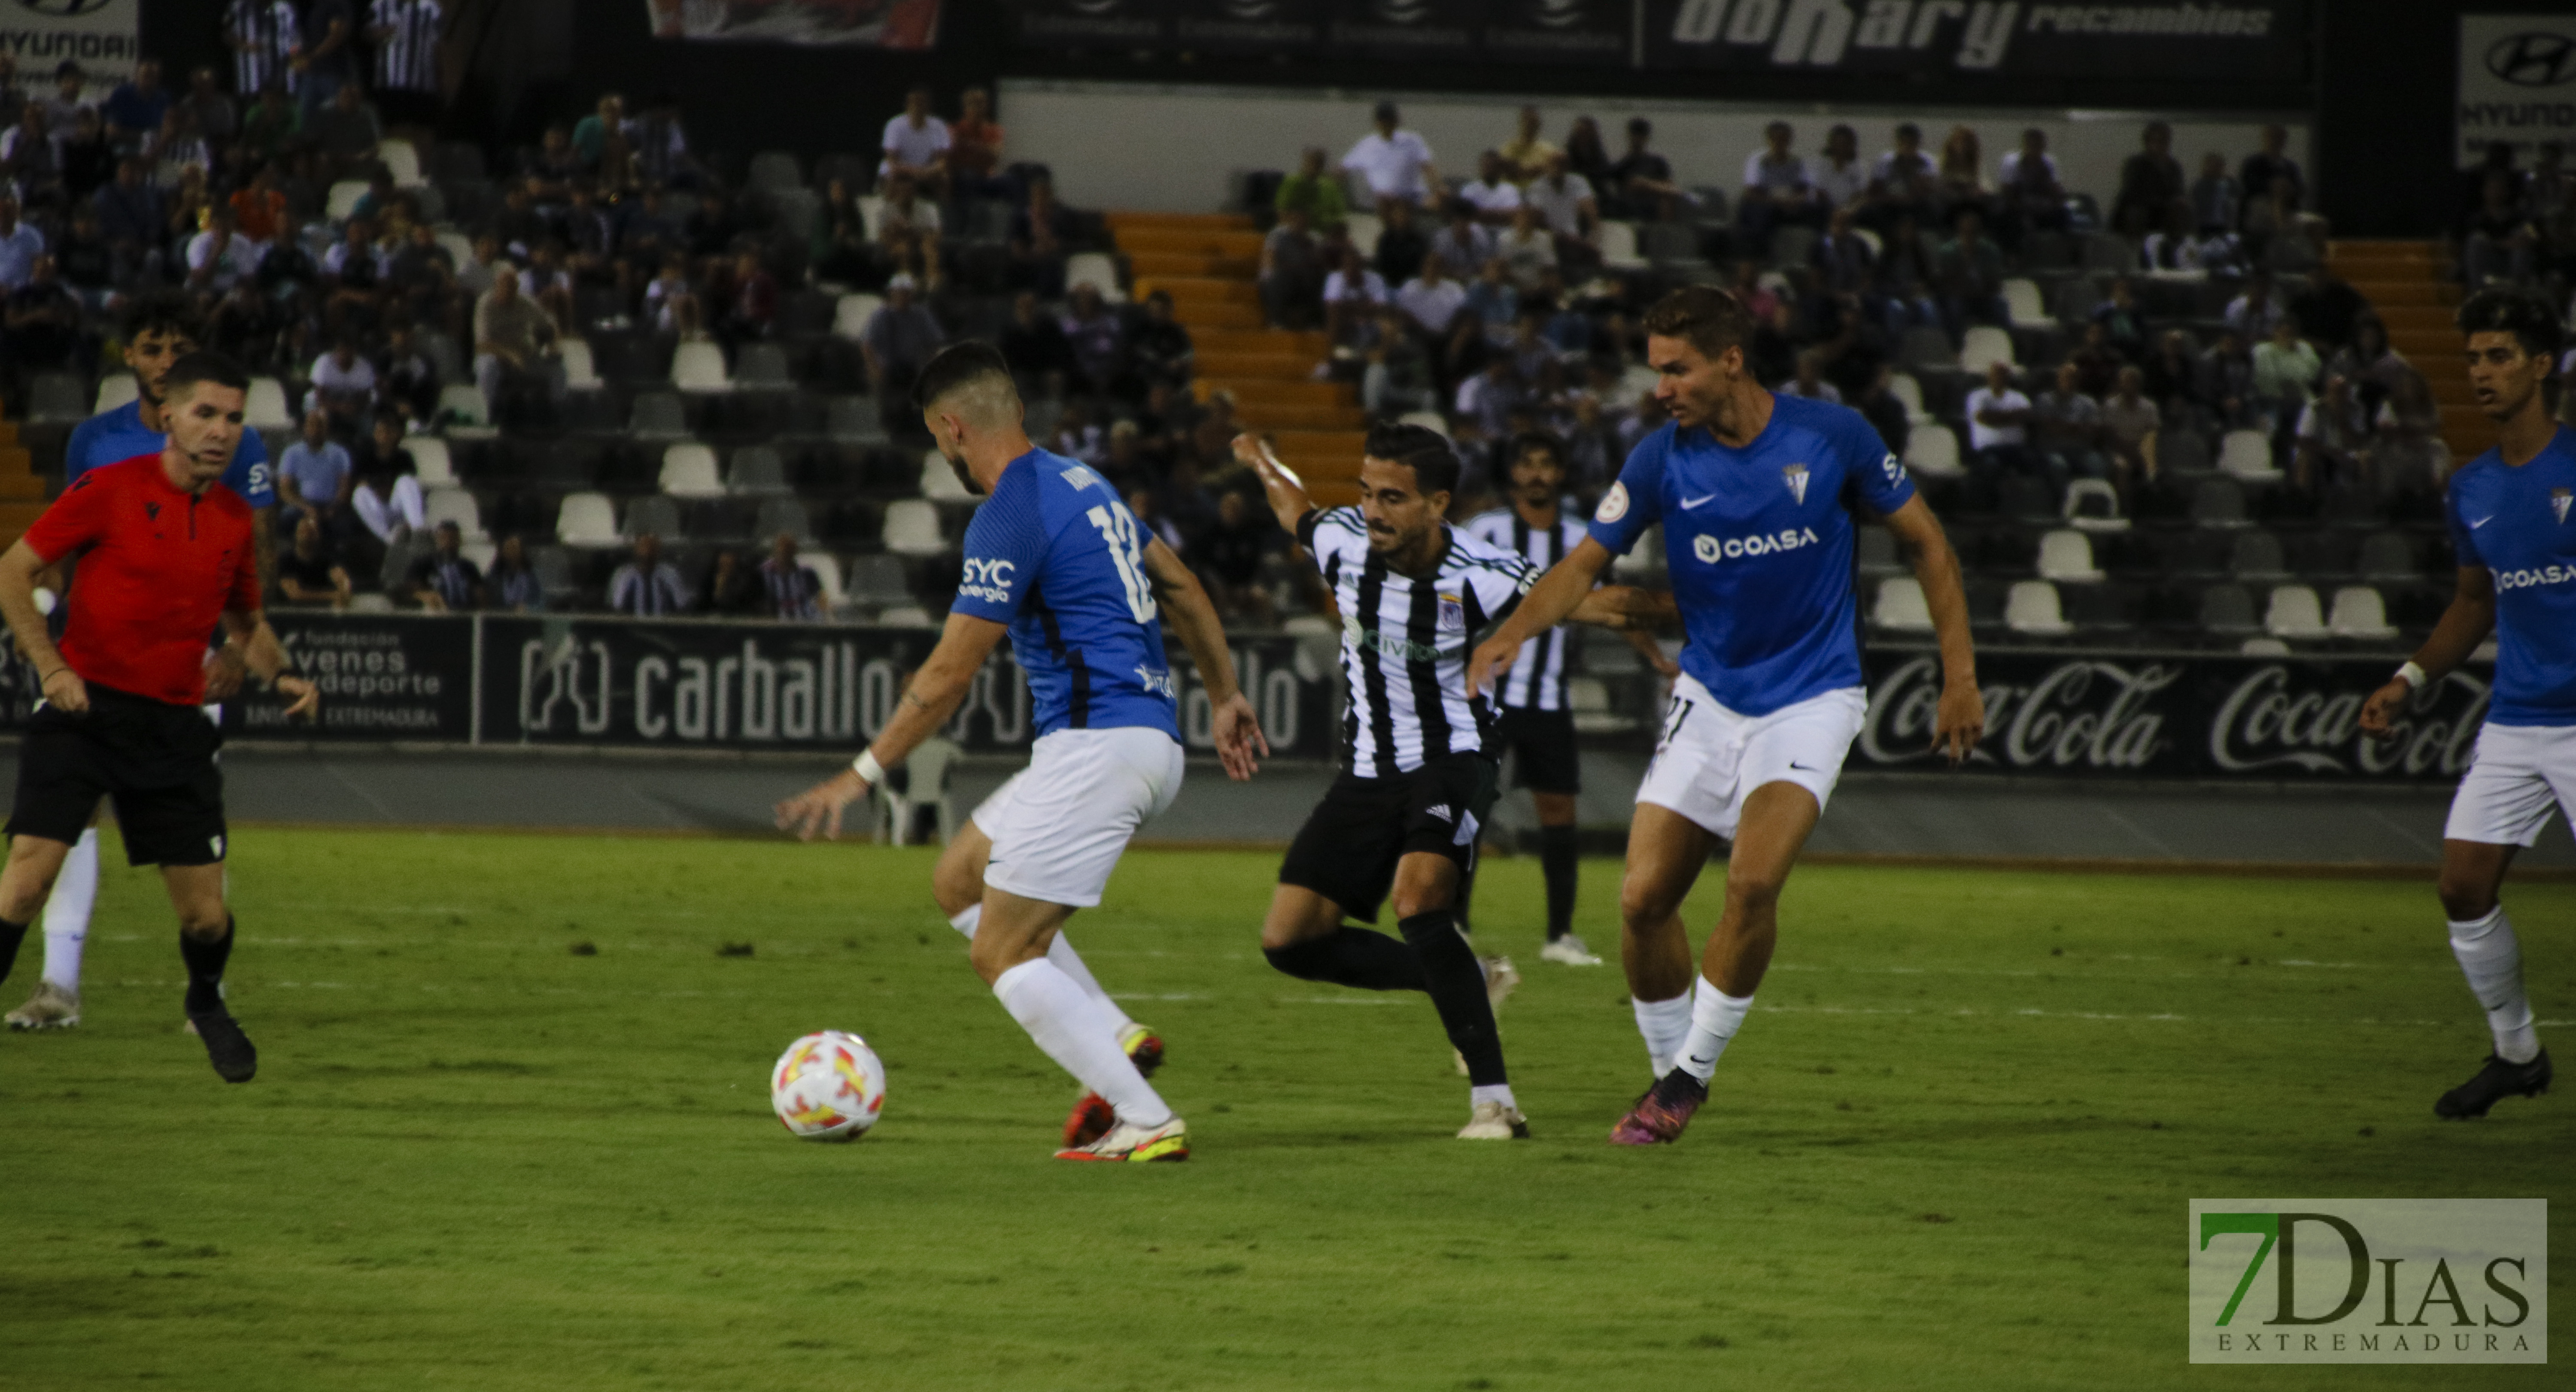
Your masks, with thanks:
[{"label": "striped-jersey player with raised arm between two blue players", "polygon": [[[1252,436],[1234,441],[1270,510],[1291,528],[1342,614],[1342,776],[1306,817],[1262,920],[1262,956],[1291,977],[1363,990],[1419,990],[1468,1067],[1461,1139],[1528,1137],[1494,1034],[1492,974],[1458,931],[1458,882],[1494,802],[1492,709],[1466,691],[1466,652],[1507,616],[1538,570],[1443,518],[1458,456],[1422,425],[1376,425],[1360,461],[1360,505],[1316,508]],[[1654,611],[1636,590],[1595,590],[1569,619],[1623,626]],[[1404,941],[1342,918],[1378,920],[1396,900]],[[1494,995],[1489,995],[1494,992]]]}]

